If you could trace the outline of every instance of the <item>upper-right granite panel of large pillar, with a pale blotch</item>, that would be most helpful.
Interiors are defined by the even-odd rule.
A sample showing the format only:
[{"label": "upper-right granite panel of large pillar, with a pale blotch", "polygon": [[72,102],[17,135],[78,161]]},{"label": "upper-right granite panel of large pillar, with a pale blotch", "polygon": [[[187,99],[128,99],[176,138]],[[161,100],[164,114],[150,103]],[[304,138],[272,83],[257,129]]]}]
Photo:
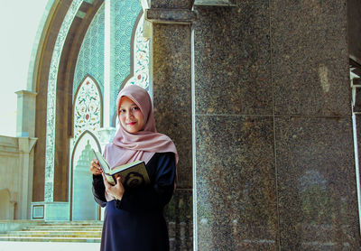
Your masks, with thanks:
[{"label": "upper-right granite panel of large pillar, with a pale blotch", "polygon": [[346,0],[270,3],[275,114],[349,116]]}]

